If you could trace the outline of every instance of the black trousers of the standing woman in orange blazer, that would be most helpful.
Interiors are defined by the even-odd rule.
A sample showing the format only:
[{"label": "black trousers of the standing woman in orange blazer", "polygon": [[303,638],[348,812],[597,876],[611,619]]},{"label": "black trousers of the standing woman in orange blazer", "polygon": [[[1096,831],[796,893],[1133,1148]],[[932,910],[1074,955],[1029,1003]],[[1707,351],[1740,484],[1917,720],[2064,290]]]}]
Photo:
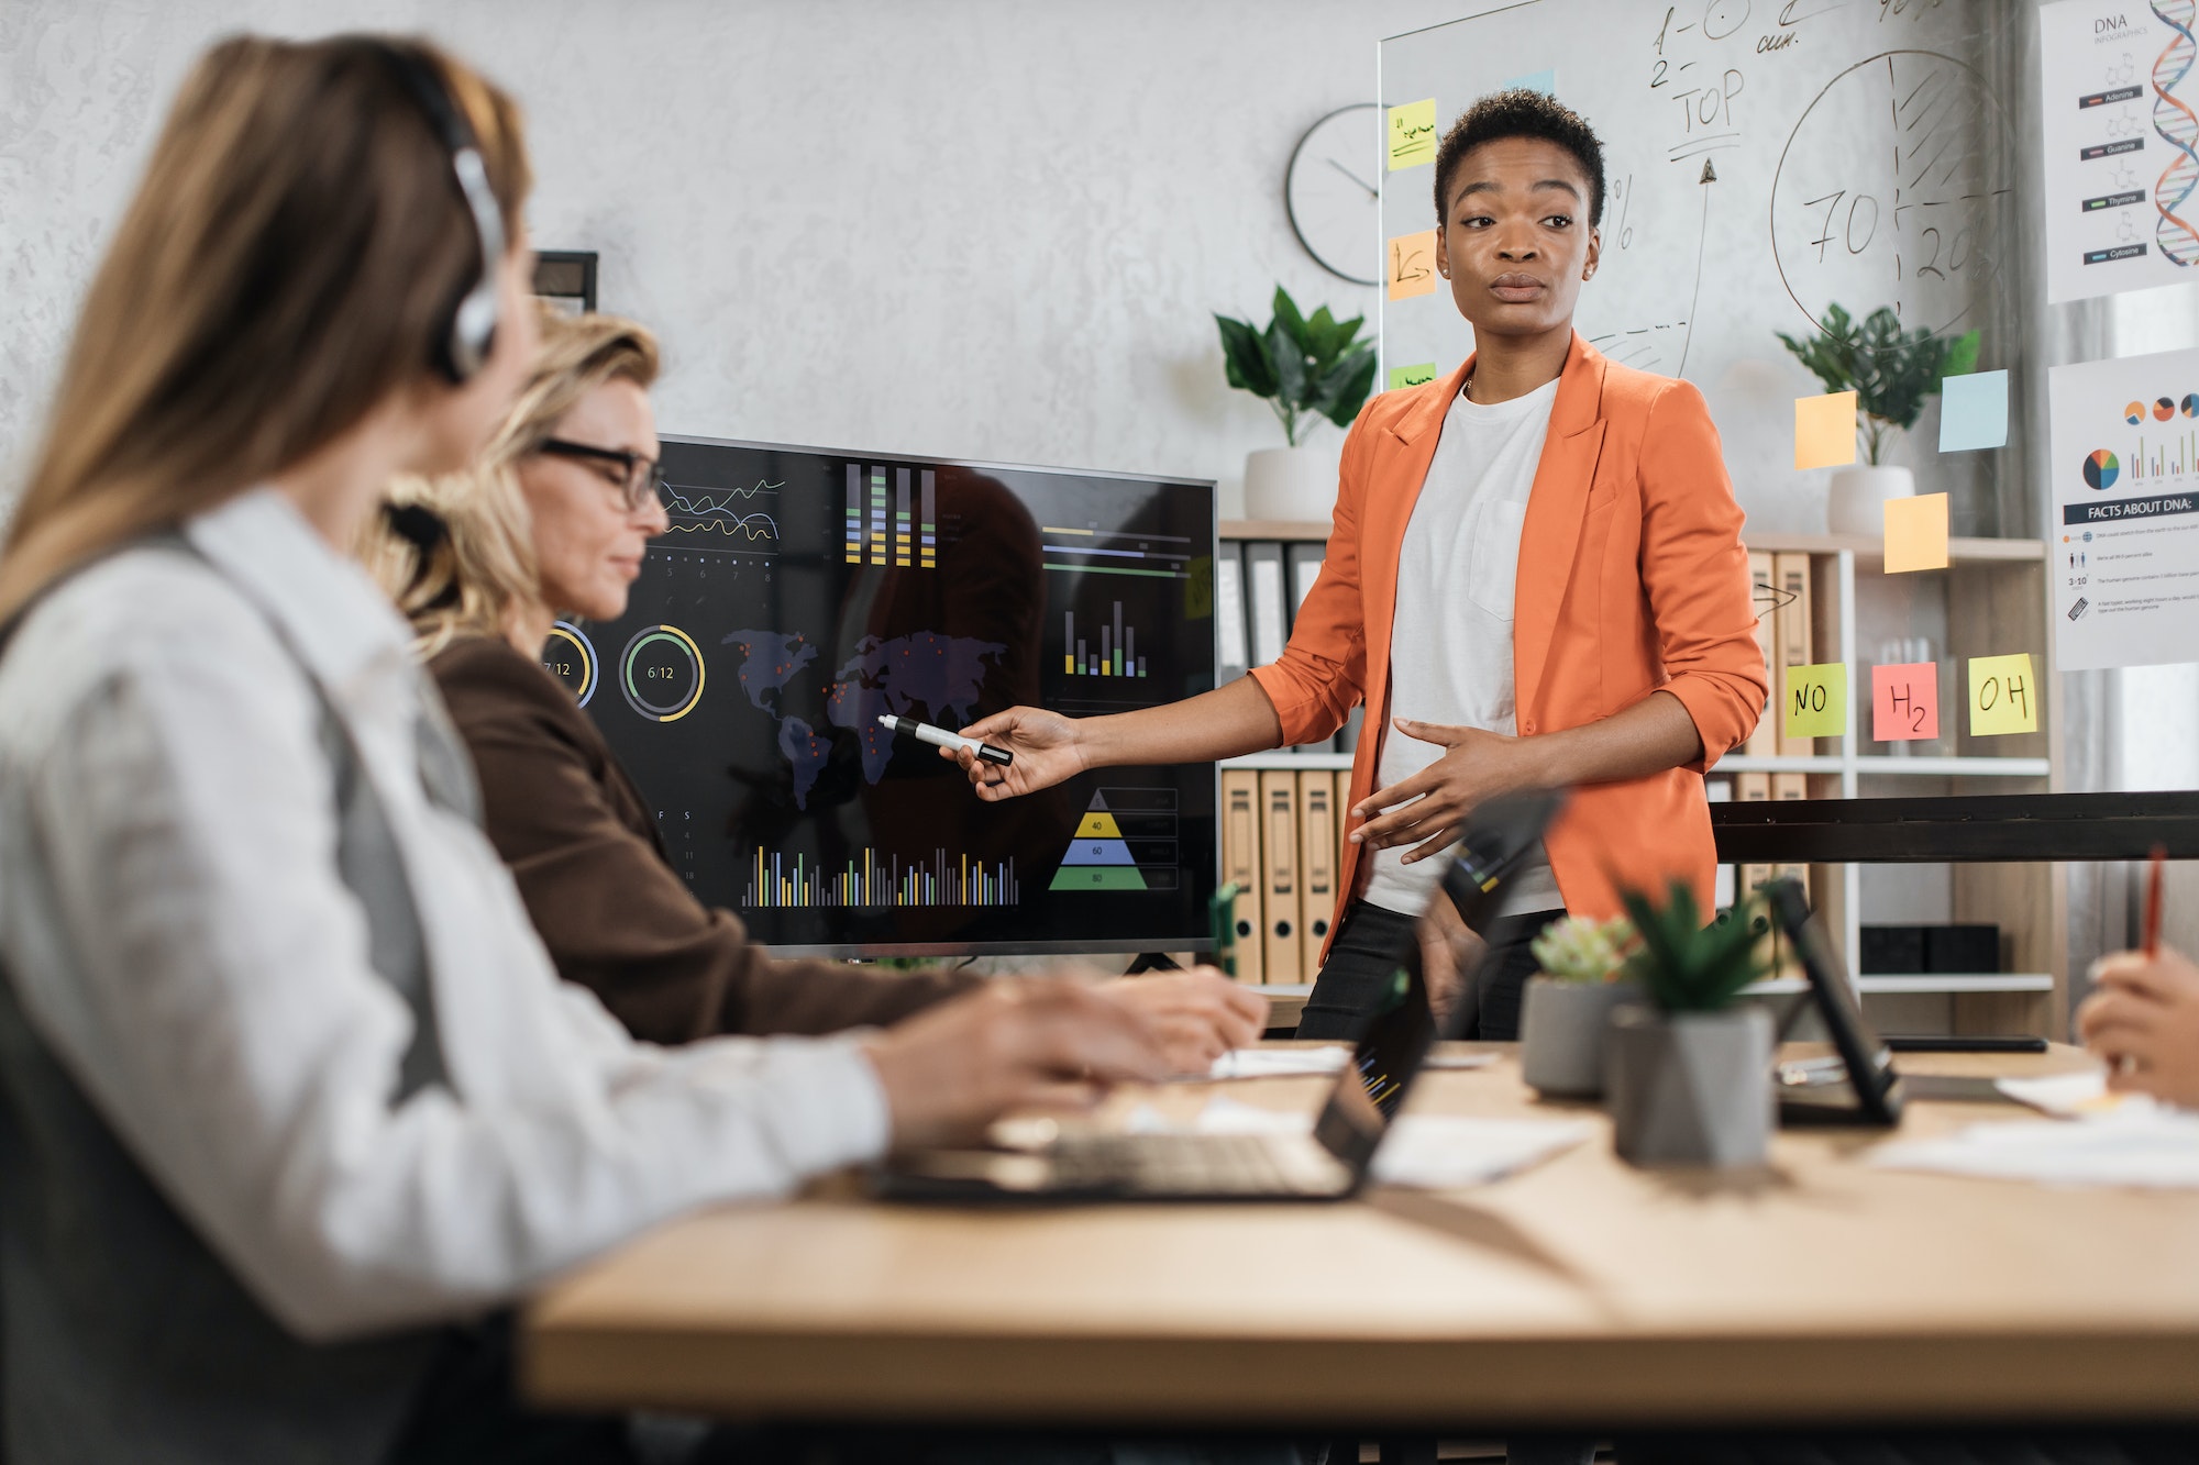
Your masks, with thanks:
[{"label": "black trousers of the standing woman in orange blazer", "polygon": [[[1535,952],[1528,944],[1544,926],[1563,917],[1563,911],[1531,911],[1498,917],[1489,926],[1484,935],[1491,961],[1482,966],[1480,988],[1460,996],[1469,1005],[1462,1036],[1484,1043],[1520,1038],[1520,994],[1535,974]],[[1328,946],[1328,961],[1322,963],[1313,996],[1297,1018],[1297,1036],[1357,1040],[1390,972],[1401,963],[1412,970],[1421,966],[1414,924],[1410,915],[1363,900],[1346,906],[1337,939]]]}]

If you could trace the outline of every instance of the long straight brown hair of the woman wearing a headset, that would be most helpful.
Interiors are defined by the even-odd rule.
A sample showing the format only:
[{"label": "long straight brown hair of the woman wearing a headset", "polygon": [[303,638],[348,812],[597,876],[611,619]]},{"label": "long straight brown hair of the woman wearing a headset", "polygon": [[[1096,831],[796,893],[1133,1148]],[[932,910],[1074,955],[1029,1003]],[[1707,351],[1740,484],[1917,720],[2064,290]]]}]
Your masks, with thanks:
[{"label": "long straight brown hair of the woman wearing a headset", "polygon": [[519,108],[418,40],[213,46],[92,277],[0,548],[0,620],[55,579],[266,482],[433,370],[482,242],[391,51],[464,112],[504,213]]}]

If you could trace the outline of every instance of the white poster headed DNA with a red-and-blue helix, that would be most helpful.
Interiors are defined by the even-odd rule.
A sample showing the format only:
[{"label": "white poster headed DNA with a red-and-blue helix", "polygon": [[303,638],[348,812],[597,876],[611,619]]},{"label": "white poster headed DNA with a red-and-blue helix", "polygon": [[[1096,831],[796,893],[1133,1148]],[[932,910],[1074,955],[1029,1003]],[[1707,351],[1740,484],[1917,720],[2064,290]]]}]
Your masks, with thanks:
[{"label": "white poster headed DNA with a red-and-blue helix", "polygon": [[2060,0],[2038,29],[2047,299],[2190,282],[2199,0]]}]

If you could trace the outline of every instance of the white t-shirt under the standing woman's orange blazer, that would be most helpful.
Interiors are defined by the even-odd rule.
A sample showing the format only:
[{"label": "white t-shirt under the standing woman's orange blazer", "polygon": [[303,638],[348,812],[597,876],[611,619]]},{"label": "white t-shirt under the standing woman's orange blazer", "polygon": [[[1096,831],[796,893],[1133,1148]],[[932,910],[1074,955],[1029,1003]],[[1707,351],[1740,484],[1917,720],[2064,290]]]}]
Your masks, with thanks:
[{"label": "white t-shirt under the standing woman's orange blazer", "polygon": [[[1465,394],[1443,418],[1436,458],[1412,506],[1396,565],[1396,625],[1390,631],[1390,717],[1482,728],[1513,737],[1513,581],[1520,526],[1550,431],[1557,383],[1482,407]],[[1390,787],[1434,763],[1445,748],[1383,724],[1374,787]],[[1443,860],[1401,864],[1414,845],[1374,851],[1368,904],[1421,915]],[[1550,862],[1520,871],[1500,911],[1557,911]]]}]

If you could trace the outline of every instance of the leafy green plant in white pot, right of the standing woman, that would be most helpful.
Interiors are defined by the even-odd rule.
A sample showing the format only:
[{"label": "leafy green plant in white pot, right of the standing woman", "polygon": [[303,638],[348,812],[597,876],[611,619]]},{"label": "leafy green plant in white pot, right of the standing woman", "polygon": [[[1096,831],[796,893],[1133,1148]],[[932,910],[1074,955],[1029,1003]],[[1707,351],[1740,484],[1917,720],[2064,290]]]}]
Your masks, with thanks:
[{"label": "leafy green plant in white pot, right of the standing woman", "polygon": [[1977,370],[1977,330],[1959,337],[1904,332],[1891,306],[1871,310],[1863,321],[1841,306],[1827,306],[1808,341],[1783,330],[1772,334],[1825,383],[1825,392],[1856,394],[1865,462],[1832,475],[1825,524],[1834,535],[1878,537],[1885,532],[1885,502],[1907,499],[1918,491],[1915,475],[1880,462],[1880,453],[1891,433],[1918,425],[1924,403],[1940,394],[1942,378]]}]

